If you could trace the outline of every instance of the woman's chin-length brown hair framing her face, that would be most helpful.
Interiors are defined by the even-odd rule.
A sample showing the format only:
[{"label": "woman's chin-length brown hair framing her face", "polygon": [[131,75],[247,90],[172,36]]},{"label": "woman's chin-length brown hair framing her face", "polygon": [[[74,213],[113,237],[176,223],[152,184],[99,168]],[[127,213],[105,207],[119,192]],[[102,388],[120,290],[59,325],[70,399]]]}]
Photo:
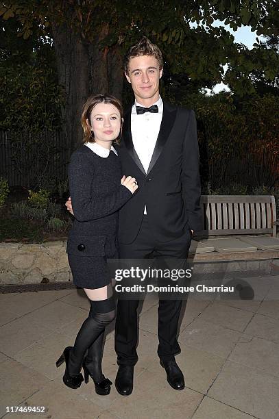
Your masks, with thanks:
[{"label": "woman's chin-length brown hair framing her face", "polygon": [[86,119],[88,119],[89,124],[91,124],[90,121],[90,114],[93,110],[93,108],[98,103],[110,103],[111,105],[114,105],[117,110],[119,110],[120,117],[121,117],[121,123],[120,123],[120,132],[119,136],[113,140],[112,143],[118,144],[121,140],[122,136],[122,118],[123,118],[123,107],[121,105],[121,101],[117,99],[116,97],[112,96],[111,94],[93,94],[92,96],[88,97],[86,103],[84,103],[84,107],[82,110],[82,129],[84,130],[84,138],[83,138],[83,144],[86,142],[95,142],[94,132],[88,127],[88,124],[86,122]]}]

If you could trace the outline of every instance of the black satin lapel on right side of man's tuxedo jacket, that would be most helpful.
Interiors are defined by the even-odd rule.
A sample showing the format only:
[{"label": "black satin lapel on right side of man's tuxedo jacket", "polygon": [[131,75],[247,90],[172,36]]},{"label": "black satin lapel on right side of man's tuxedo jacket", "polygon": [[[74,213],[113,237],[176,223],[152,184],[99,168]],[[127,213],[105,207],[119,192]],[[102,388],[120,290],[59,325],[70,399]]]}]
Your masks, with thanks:
[{"label": "black satin lapel on right side of man's tuxedo jacket", "polygon": [[175,121],[176,112],[177,110],[175,109],[175,107],[169,105],[169,103],[164,102],[160,131],[159,131],[158,138],[155,144],[154,152],[152,154],[152,157],[148,166],[147,175],[149,175],[150,171],[154,167],[154,164],[157,162],[158,157],[160,156],[160,153],[162,153],[162,149],[165,145],[165,142],[169,138],[169,134],[171,132],[171,129]]}]

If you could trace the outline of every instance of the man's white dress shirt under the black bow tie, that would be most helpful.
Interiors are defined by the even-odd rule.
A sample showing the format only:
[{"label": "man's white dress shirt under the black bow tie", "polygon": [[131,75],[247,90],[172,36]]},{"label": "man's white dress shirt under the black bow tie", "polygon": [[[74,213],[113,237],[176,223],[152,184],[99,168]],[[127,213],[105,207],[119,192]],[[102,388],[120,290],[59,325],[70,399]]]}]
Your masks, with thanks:
[{"label": "man's white dress shirt under the black bow tie", "polygon": [[[143,164],[145,173],[147,173],[160,131],[164,106],[160,96],[158,101],[152,103],[152,105],[158,106],[158,113],[145,112],[144,114],[138,115],[136,113],[136,106],[143,105],[136,101],[132,106],[131,112],[131,133],[134,149],[139,160],[141,160],[141,164]],[[144,214],[147,214],[146,206]]]}]

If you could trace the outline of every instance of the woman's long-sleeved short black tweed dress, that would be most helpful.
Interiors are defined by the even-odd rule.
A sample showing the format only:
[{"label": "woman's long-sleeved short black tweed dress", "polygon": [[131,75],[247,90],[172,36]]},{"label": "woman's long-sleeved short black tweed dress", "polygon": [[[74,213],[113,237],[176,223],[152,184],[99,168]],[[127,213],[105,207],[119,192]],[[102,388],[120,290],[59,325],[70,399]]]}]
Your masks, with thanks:
[{"label": "woman's long-sleeved short black tweed dress", "polygon": [[112,150],[100,157],[83,145],[71,155],[68,176],[75,220],[66,252],[73,283],[101,288],[111,281],[107,259],[118,257],[118,210],[132,192],[120,184],[119,157]]}]

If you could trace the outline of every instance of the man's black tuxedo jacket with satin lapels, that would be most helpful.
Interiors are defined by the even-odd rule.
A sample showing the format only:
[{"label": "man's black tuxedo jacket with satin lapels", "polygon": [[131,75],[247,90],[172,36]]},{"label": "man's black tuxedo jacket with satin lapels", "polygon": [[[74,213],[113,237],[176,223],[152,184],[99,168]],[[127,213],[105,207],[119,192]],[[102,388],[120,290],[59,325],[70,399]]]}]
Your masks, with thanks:
[{"label": "man's black tuxedo jacket with satin lapels", "polygon": [[134,149],[131,110],[125,114],[123,139],[117,146],[122,172],[138,182],[138,190],[120,210],[119,241],[136,238],[145,205],[156,239],[167,242],[186,229],[201,230],[199,148],[195,112],[164,101],[162,123],[147,173]]}]

